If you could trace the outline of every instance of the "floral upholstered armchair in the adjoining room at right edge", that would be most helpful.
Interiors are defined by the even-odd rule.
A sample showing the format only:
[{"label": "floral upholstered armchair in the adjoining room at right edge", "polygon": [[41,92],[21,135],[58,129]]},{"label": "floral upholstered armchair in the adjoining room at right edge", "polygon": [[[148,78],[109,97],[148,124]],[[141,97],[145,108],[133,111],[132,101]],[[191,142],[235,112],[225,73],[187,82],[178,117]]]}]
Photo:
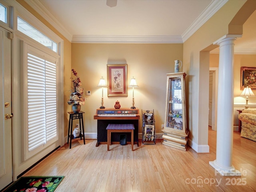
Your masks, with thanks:
[{"label": "floral upholstered armchair in the adjoining room at right edge", "polygon": [[256,109],[244,109],[238,118],[242,122],[241,137],[256,141]]}]

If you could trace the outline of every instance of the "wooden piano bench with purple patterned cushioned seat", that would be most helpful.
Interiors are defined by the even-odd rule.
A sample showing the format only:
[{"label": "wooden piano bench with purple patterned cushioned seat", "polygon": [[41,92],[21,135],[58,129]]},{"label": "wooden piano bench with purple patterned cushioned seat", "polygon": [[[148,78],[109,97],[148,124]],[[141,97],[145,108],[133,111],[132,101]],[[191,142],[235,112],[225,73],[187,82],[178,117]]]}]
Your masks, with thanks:
[{"label": "wooden piano bench with purple patterned cushioned seat", "polygon": [[133,151],[133,130],[134,124],[108,124],[106,130],[108,130],[108,151],[109,146],[111,144],[111,133],[112,132],[130,132],[131,133],[131,144],[132,144],[132,151]]}]

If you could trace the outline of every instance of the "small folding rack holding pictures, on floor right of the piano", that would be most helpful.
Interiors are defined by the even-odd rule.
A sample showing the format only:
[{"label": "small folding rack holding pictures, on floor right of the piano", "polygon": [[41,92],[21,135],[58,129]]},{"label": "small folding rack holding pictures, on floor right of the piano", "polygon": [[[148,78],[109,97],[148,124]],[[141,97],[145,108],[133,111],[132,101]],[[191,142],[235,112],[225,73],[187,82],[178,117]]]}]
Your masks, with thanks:
[{"label": "small folding rack holding pictures, on floor right of the piano", "polygon": [[153,110],[142,111],[142,143],[156,144],[155,117]]}]

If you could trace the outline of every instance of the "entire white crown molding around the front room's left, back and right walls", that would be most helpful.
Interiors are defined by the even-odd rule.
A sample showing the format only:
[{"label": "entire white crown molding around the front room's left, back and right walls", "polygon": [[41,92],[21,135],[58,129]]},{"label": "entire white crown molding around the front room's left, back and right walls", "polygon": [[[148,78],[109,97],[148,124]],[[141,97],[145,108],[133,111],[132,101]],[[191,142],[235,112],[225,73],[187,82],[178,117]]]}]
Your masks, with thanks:
[{"label": "entire white crown molding around the front room's left, back and right walls", "polygon": [[74,43],[184,43],[228,0],[213,0],[182,36],[81,36],[70,34],[66,28],[42,5],[40,0],[24,0],[38,14],[45,18],[56,30]]}]

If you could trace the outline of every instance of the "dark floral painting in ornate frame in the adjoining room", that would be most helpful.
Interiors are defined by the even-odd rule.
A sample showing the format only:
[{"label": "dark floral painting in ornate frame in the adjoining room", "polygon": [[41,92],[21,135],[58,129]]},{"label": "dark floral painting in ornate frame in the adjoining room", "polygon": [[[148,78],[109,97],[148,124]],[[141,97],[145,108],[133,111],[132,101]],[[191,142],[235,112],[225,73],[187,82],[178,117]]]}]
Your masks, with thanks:
[{"label": "dark floral painting in ornate frame in the adjoining room", "polygon": [[256,67],[241,67],[241,87],[244,90],[246,86],[256,89]]}]

